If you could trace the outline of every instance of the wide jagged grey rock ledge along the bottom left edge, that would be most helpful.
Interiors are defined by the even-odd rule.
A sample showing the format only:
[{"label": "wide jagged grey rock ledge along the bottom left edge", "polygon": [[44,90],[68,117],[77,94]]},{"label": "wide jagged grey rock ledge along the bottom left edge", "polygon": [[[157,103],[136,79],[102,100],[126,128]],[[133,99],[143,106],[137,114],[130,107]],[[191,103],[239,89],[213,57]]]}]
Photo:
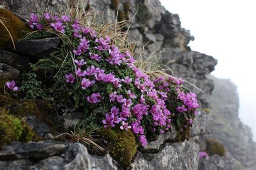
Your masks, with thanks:
[{"label": "wide jagged grey rock ledge along the bottom left edge", "polygon": [[109,155],[91,156],[84,145],[13,142],[0,151],[0,169],[117,169]]}]

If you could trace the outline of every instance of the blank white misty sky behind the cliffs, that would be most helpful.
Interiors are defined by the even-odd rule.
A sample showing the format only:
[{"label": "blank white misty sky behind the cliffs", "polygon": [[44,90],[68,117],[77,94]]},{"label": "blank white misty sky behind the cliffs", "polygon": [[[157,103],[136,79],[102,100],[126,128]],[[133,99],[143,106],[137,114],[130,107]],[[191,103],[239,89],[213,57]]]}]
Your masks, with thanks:
[{"label": "blank white misty sky behind the cliffs", "polygon": [[[195,37],[193,51],[218,59],[212,74],[230,78],[238,86],[239,118],[255,132],[256,1],[253,0],[160,0],[177,13],[181,26]],[[214,121],[214,120],[213,120]]]}]

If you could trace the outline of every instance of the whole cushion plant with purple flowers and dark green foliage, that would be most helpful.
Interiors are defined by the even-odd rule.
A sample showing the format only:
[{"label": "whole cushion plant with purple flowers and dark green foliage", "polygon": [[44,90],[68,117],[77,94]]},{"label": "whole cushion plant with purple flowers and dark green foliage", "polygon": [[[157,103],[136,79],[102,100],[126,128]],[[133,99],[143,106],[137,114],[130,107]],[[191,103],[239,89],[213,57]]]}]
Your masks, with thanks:
[{"label": "whole cushion plant with purple flowers and dark green foliage", "polygon": [[61,106],[59,112],[84,112],[83,123],[91,127],[131,130],[144,147],[147,140],[169,131],[172,123],[181,132],[191,127],[198,108],[196,94],[182,86],[182,79],[145,73],[136,66],[131,46],[120,43],[124,39],[111,34],[110,28],[49,12],[32,13],[28,22],[32,29],[62,39],[52,58],[31,66],[44,75],[44,91]]}]

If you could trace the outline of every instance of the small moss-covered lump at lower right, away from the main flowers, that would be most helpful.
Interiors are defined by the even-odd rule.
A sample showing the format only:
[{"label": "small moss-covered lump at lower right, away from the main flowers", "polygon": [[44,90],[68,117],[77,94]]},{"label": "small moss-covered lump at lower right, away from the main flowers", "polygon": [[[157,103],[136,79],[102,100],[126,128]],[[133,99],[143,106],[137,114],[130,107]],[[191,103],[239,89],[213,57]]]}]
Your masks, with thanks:
[{"label": "small moss-covered lump at lower right, away from the main flowers", "polygon": [[206,140],[206,152],[209,155],[217,154],[223,156],[225,154],[225,147],[220,141],[209,138]]}]

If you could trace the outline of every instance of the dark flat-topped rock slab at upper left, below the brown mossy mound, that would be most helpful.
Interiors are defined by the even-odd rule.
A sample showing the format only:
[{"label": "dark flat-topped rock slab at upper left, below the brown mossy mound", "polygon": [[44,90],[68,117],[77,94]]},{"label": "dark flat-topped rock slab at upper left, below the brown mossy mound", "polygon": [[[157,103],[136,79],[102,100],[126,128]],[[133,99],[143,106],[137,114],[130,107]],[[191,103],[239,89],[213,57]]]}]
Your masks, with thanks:
[{"label": "dark flat-topped rock slab at upper left, below the brown mossy mound", "polygon": [[[50,57],[50,53],[55,51],[58,45],[58,37],[24,40],[21,42],[15,42],[15,52],[37,58]],[[11,44],[9,45],[9,49],[11,49],[12,51],[14,50]]]}]

